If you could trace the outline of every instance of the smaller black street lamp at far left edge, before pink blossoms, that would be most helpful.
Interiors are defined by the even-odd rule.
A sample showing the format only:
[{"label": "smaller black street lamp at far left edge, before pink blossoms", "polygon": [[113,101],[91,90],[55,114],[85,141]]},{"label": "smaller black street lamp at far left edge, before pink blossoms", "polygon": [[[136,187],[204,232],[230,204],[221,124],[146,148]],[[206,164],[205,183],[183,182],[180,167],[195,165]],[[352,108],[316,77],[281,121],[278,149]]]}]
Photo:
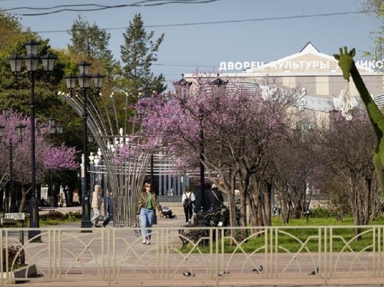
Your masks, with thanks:
[{"label": "smaller black street lamp at far left edge, before pink blossoms", "polygon": [[[3,109],[3,111],[4,111],[4,109]],[[8,109],[8,112],[9,112],[9,109]],[[4,126],[0,126],[0,141],[1,141],[1,139],[3,138],[4,128],[5,128]],[[7,149],[9,149],[9,193],[10,193],[10,197],[11,197],[11,198],[10,198],[10,199],[11,199],[11,200],[10,200],[10,203],[11,203],[11,204],[10,204],[10,206],[9,206],[9,212],[10,212],[10,213],[15,213],[15,212],[17,212],[17,211],[16,211],[16,197],[15,197],[14,186],[13,186],[13,161],[12,161],[12,150],[13,150],[13,148],[16,146],[16,144],[22,142],[22,140],[23,140],[23,136],[25,135],[25,128],[26,128],[26,126],[25,126],[25,125],[22,125],[22,124],[16,126],[16,131],[17,131],[17,133],[18,133],[18,136],[20,137],[20,139],[19,139],[17,142],[13,143],[11,138],[9,138],[9,143],[8,143],[8,145],[7,145],[5,142],[3,142],[3,145],[4,145]],[[8,195],[8,197],[9,197],[9,195]],[[8,201],[8,198],[5,197],[4,200],[5,200],[5,201]],[[6,202],[6,204],[7,204],[7,206],[8,206],[8,202]]]}]

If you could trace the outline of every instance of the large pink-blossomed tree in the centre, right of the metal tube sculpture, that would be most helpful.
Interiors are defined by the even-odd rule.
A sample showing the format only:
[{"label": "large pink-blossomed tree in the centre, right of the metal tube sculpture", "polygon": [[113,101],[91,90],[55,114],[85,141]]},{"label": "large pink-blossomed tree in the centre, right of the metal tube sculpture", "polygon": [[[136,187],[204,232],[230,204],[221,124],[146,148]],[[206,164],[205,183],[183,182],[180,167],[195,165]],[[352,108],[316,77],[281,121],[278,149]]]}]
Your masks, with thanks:
[{"label": "large pink-blossomed tree in the centre, right of the metal tube sculpture", "polygon": [[208,180],[228,195],[233,226],[234,191],[239,188],[244,225],[246,202],[257,197],[255,190],[248,190],[250,177],[263,173],[269,142],[282,137],[290,126],[290,98],[292,95],[276,89],[273,97],[265,99],[260,91],[231,83],[225,89],[212,85],[208,77],[196,76],[189,89],[177,87],[167,97],[156,95],[138,102],[137,110],[144,110],[140,113],[146,139],[142,148],[162,148],[178,159],[179,170],[196,169],[203,131]]}]

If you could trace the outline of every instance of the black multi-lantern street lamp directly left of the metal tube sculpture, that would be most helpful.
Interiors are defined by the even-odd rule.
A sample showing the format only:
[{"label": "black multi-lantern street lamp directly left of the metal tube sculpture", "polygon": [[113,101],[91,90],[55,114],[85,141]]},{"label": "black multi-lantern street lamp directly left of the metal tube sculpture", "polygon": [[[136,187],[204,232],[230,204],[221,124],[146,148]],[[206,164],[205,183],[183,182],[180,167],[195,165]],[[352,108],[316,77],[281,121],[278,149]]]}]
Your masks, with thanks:
[{"label": "black multi-lantern street lamp directly left of the metal tube sculpture", "polygon": [[102,88],[105,75],[102,75],[100,73],[97,73],[95,75],[90,75],[90,67],[91,64],[85,61],[81,61],[78,64],[79,67],[79,75],[73,75],[69,74],[64,76],[67,88],[69,89],[69,93],[72,95],[73,90],[76,87],[76,80],[79,82],[80,89],[83,93],[83,175],[82,175],[82,181],[81,181],[81,205],[82,205],[82,220],[81,220],[81,227],[90,228],[92,227],[91,223],[91,206],[90,206],[90,192],[88,190],[88,181],[87,181],[87,173],[88,173],[88,163],[87,163],[87,127],[86,127],[86,119],[88,117],[88,112],[86,110],[86,101],[87,96],[86,92],[89,90],[90,92],[94,92],[94,90],[90,87],[91,78],[93,79],[93,85],[96,89],[96,94],[98,95],[100,93],[100,89]]}]

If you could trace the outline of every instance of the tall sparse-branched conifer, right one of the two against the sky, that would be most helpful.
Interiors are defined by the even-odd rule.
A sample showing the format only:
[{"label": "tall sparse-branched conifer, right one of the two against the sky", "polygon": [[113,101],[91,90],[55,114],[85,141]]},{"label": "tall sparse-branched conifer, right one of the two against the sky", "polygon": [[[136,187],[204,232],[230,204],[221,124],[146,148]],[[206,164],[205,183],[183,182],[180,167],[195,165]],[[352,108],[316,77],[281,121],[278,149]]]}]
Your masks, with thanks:
[{"label": "tall sparse-branched conifer, right one of the two against the sky", "polygon": [[141,14],[136,14],[123,36],[125,44],[120,49],[121,60],[125,64],[122,80],[124,89],[133,95],[164,91],[166,86],[163,74],[154,75],[151,72],[152,63],[158,60],[157,52],[164,33],[154,41],[154,31],[147,33]]}]

